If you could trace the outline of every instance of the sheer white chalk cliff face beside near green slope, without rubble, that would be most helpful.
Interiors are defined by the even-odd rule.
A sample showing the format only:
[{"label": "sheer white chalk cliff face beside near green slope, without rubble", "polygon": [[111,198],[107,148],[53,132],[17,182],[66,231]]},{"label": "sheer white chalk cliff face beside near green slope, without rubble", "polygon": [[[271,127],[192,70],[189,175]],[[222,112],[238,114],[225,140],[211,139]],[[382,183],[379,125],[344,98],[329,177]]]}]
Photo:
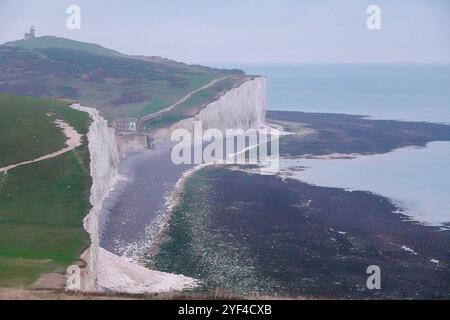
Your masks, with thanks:
[{"label": "sheer white chalk cliff face beside near green slope, without rubble", "polygon": [[[113,189],[118,179],[120,163],[119,144],[114,129],[108,127],[107,121],[93,108],[74,104],[74,109],[89,113],[92,123],[87,138],[91,158],[90,171],[92,177],[90,203],[92,209],[84,220],[84,227],[91,237],[90,247],[83,253],[81,259],[86,267],[80,271],[80,281],[75,281],[68,289],[82,291],[97,291],[98,289],[98,252],[99,252],[99,218],[103,202]],[[76,280],[76,279],[75,279]]]}]

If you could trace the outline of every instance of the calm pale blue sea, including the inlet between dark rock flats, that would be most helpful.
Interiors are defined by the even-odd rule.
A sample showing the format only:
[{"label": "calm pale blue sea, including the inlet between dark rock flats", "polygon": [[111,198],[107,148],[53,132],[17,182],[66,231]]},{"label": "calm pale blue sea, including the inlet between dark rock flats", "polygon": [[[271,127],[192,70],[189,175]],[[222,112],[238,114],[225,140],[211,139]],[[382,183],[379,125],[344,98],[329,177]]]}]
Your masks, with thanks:
[{"label": "calm pale blue sea, including the inlet between dark rock flats", "polygon": [[[236,66],[235,66],[236,67]],[[375,119],[450,123],[450,66],[241,65],[268,78],[272,110],[367,115]],[[353,160],[287,161],[308,170],[303,181],[371,191],[415,220],[450,222],[450,143],[405,148]]]}]

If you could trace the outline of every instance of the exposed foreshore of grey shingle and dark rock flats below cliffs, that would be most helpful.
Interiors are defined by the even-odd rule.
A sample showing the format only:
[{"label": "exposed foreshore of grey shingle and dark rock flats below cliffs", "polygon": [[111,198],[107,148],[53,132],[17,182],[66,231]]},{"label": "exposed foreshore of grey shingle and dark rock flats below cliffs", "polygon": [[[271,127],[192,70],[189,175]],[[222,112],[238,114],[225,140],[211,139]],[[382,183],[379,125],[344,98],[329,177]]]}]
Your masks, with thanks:
[{"label": "exposed foreshore of grey shingle and dark rock flats below cliffs", "polygon": [[[395,158],[395,150],[450,137],[446,125],[351,115],[270,112],[269,121],[290,133],[280,154],[294,164]],[[301,161],[265,176],[254,166],[177,166],[170,153],[171,145],[160,145],[121,163],[122,180],[106,201],[105,249],[197,279],[199,292],[445,297],[448,232],[407,216],[395,199],[305,183]],[[364,284],[372,264],[388,274],[376,294]]]}]

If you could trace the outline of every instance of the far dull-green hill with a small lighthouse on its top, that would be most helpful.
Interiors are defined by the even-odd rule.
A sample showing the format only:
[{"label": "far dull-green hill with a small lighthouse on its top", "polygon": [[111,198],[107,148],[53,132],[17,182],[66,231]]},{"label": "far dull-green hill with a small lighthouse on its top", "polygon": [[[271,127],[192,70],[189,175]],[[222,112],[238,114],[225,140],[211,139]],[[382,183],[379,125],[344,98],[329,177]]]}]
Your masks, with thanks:
[{"label": "far dull-green hill with a small lighthouse on its top", "polygon": [[232,87],[244,73],[129,56],[50,36],[0,46],[0,92],[77,100],[108,119],[159,111],[225,76],[234,80],[216,86],[213,95]]}]

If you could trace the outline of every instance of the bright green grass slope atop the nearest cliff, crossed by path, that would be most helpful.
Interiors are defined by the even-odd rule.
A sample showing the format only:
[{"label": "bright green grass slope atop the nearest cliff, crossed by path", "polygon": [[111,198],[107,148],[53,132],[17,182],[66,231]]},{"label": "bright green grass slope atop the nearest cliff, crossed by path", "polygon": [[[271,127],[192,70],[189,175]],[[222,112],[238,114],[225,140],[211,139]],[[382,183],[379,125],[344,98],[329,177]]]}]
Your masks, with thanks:
[{"label": "bright green grass slope atop the nearest cliff, crossed by path", "polygon": [[[2,152],[4,164],[64,144],[63,133],[47,118],[64,119],[83,134],[90,122],[86,113],[58,101],[0,95],[0,106],[1,120],[8,119],[0,124],[0,146],[12,149],[7,156]],[[82,146],[59,157],[0,173],[0,287],[29,285],[78,259],[89,244],[83,219],[90,208],[90,185],[85,138]]]}]

